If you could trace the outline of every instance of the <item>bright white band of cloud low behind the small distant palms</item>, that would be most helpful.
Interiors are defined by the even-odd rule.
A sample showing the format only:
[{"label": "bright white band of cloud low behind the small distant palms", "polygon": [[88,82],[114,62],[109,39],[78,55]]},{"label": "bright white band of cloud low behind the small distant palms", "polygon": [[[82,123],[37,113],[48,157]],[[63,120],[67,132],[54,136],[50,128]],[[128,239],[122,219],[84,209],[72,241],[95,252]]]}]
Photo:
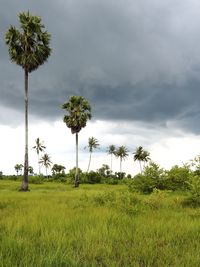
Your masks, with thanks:
[{"label": "bright white band of cloud low behind the small distant palms", "polygon": [[[0,132],[0,170],[5,174],[12,174],[14,165],[23,163],[24,128],[0,126]],[[97,138],[101,145],[101,149],[93,153],[91,169],[96,170],[102,164],[110,165],[110,156],[106,153],[106,148],[110,144],[125,145],[130,155],[123,162],[123,171],[131,174],[139,172],[139,164],[133,161],[132,155],[139,145],[151,153],[153,161],[165,168],[187,162],[199,154],[200,147],[199,136],[183,134],[176,130],[150,127],[148,129],[146,125],[137,123],[90,122],[79,134],[79,165],[83,171],[86,171],[89,160],[89,153],[84,147],[91,136]],[[51,156],[53,163],[62,164],[67,170],[75,166],[75,136],[71,134],[70,129],[62,121],[52,124],[40,122],[30,124],[29,127],[29,164],[34,167],[35,172],[38,170],[37,155],[31,148],[37,137],[44,141],[46,152]],[[119,159],[113,158],[113,170],[119,171]]]}]

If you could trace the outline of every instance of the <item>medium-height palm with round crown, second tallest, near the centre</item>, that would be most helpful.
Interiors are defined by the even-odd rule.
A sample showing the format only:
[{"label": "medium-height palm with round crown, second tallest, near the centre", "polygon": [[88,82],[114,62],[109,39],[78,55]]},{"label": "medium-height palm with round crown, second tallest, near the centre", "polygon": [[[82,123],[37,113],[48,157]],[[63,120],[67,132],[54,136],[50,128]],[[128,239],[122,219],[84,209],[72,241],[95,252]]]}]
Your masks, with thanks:
[{"label": "medium-height palm with round crown, second tallest, near the centre", "polygon": [[67,127],[71,129],[72,134],[76,134],[76,174],[75,187],[79,186],[78,174],[78,133],[91,119],[91,107],[89,102],[82,96],[71,96],[69,101],[62,105],[62,108],[67,111],[63,121]]}]

